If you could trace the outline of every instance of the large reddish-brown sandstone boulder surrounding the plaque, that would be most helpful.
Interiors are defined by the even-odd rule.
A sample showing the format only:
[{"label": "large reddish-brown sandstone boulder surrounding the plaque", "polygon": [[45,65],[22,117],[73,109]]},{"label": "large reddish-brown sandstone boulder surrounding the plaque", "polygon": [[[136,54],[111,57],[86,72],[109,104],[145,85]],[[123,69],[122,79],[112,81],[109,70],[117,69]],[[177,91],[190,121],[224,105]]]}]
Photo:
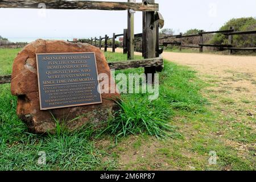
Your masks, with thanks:
[{"label": "large reddish-brown sandstone boulder surrounding the plaque", "polygon": [[[98,74],[106,73],[111,78],[104,54],[94,46],[42,39],[28,44],[14,60],[11,93],[18,96],[17,114],[32,133],[54,132],[56,120],[70,130],[86,123],[93,123],[98,127],[100,123],[113,117],[113,112],[117,109],[115,100],[119,98],[119,94],[114,93],[102,94],[102,104],[40,110],[36,53],[67,52],[95,52]],[[72,121],[77,117],[79,118]]]}]

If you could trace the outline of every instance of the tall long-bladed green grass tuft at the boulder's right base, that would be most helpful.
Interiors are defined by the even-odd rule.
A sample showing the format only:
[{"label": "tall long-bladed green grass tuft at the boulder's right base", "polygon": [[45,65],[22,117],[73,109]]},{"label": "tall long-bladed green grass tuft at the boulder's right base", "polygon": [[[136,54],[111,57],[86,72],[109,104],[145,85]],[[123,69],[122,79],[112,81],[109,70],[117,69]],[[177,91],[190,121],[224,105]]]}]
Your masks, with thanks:
[{"label": "tall long-bladed green grass tuft at the boulder's right base", "polygon": [[174,132],[174,127],[171,127],[167,120],[170,111],[164,108],[156,109],[156,104],[150,104],[143,96],[137,98],[139,100],[118,102],[121,110],[108,123],[105,133],[115,135],[116,138],[131,134],[148,134],[163,138],[168,136],[167,132]]}]

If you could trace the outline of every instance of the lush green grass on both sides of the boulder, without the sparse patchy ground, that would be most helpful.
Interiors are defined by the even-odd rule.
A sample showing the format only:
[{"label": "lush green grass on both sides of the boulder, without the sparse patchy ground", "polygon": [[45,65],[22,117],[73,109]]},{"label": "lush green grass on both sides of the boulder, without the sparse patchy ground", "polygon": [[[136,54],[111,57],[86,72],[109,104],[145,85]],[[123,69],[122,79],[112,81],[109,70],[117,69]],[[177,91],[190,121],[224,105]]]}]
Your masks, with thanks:
[{"label": "lush green grass on both sides of the boulder, without the sparse patchy ground", "polygon": [[[17,52],[17,49],[1,50],[0,57],[5,57],[3,60],[8,63],[5,68],[1,67],[1,73],[11,72]],[[106,58],[121,61],[126,60],[126,55],[108,52]],[[116,74],[119,72],[143,73],[143,69],[127,69]],[[143,94],[122,94],[121,110],[113,121],[109,121],[109,127],[100,131],[100,139],[109,135],[117,139],[137,134],[180,137],[169,121],[177,110],[184,113],[204,111],[206,101],[199,93],[204,83],[187,67],[167,61],[159,80],[158,100],[149,101]],[[108,148],[97,148],[93,139],[95,135],[90,131],[63,131],[44,136],[30,134],[15,110],[16,97],[10,94],[10,84],[0,85],[0,170],[111,170],[118,167],[117,154],[109,154],[106,152]],[[140,143],[134,147],[139,146]],[[45,166],[37,164],[39,151],[46,151]]]}]

